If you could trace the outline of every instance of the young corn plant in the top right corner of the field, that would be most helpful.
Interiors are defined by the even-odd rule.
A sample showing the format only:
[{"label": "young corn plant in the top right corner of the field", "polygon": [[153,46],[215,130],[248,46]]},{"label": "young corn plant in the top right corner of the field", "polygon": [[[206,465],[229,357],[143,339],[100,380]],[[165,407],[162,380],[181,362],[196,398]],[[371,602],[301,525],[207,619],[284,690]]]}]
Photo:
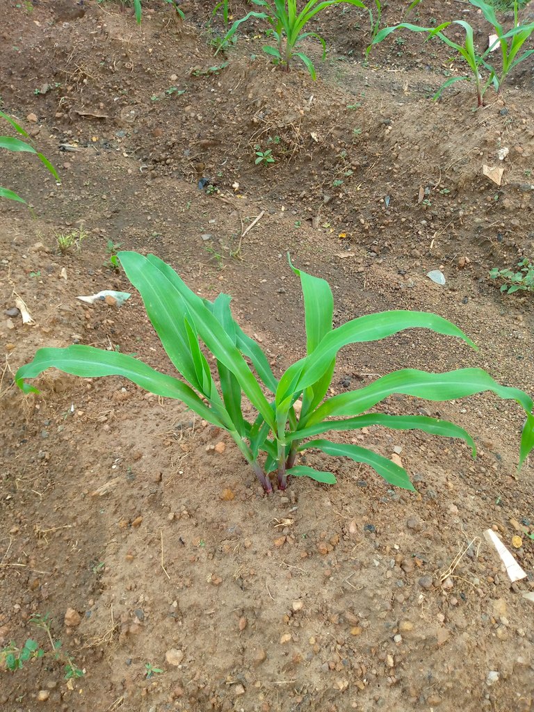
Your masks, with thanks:
[{"label": "young corn plant in the top right corner of the field", "polygon": [[[460,56],[464,58],[468,68],[471,70],[471,75],[462,75],[447,79],[434,94],[434,99],[438,99],[444,89],[450,87],[456,82],[470,81],[474,82],[476,87],[478,106],[483,106],[486,90],[493,85],[496,93],[499,93],[504,80],[506,80],[506,77],[511,70],[534,53],[534,49],[528,49],[523,53],[520,53],[523,45],[534,32],[534,22],[525,25],[519,24],[518,3],[516,1],[514,4],[514,26],[510,31],[505,32],[503,26],[497,19],[495,10],[491,5],[486,3],[484,0],[469,0],[469,2],[471,5],[480,9],[486,20],[491,23],[491,26],[493,26],[493,34],[496,36],[496,39],[488,44],[486,51],[478,53],[474,42],[473,28],[468,22],[464,20],[454,20],[452,22],[441,23],[441,25],[435,28],[421,27],[419,25],[412,25],[405,22],[393,27],[384,27],[384,29],[377,33],[370,46],[367,48],[367,53],[370,52],[372,46],[382,42],[390,33],[399,28],[405,28],[412,32],[426,32],[428,33],[429,39],[438,37],[442,42],[456,50]],[[466,39],[463,45],[452,41],[443,33],[443,30],[450,25],[459,25],[464,29]],[[501,48],[501,68],[498,68],[490,62],[491,53],[498,47]],[[481,72],[484,70],[488,72],[486,80],[484,80],[481,75]]]}]

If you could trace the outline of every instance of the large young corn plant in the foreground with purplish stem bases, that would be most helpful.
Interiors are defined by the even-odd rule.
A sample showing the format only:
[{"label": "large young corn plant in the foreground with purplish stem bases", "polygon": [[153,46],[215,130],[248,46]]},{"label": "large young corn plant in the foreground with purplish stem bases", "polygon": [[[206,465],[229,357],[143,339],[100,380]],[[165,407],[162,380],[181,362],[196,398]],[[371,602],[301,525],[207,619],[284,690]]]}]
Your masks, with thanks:
[{"label": "large young corn plant in the foreground with purplish stem bases", "polygon": [[[333,328],[333,295],[328,282],[293,268],[300,278],[305,305],[306,355],[283,373],[273,375],[266,355],[239,328],[230,310],[230,297],[213,302],[190,290],[176,272],[154,255],[119,252],[130,282],[139,290],[147,314],[162,345],[182,379],[157,372],[135,357],[93,346],[41,348],[33,360],[16,372],[24,392],[38,392],[26,383],[48,368],[81,377],[118,375],[162,397],[178,399],[202,419],[226,430],[270,493],[270,473],[276,471],[278,488],[288,476],[308,476],[335,483],[330,471],[298,463],[309,449],[345,456],[374,468],[388,483],[413,490],[404,468],[360,446],[340,444],[321,436],[328,431],[351,431],[372,425],[392,429],[418,429],[429,434],[464,440],[475,453],[471,436],[444,420],[414,415],[369,412],[392,394],[444,401],[492,391],[517,401],[526,420],[520,441],[519,465],[534,446],[533,401],[523,391],[501,386],[486,371],[464,368],[428,373],[412,368],[394,371],[355,391],[328,395],[337,353],[342,347],[376,341],[409,328],[425,328],[473,342],[454,324],[432,313],[387,311],[368,314]],[[213,357],[208,360],[201,348]],[[219,386],[210,361],[219,375]],[[244,417],[243,399],[256,409],[255,419]]]}]

